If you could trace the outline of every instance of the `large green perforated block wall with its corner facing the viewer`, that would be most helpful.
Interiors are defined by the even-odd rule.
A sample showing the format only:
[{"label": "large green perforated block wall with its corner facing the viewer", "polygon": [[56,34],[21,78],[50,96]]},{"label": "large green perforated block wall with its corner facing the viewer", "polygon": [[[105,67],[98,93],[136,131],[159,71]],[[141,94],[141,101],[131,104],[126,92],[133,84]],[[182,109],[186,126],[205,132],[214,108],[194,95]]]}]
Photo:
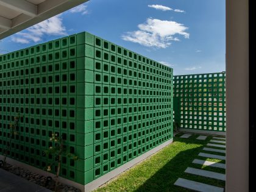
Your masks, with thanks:
[{"label": "large green perforated block wall with its corner facing the viewer", "polygon": [[172,68],[87,32],[0,55],[0,153],[20,111],[9,157],[43,169],[59,133],[79,156],[63,158],[60,176],[91,182],[172,138],[172,78]]}]

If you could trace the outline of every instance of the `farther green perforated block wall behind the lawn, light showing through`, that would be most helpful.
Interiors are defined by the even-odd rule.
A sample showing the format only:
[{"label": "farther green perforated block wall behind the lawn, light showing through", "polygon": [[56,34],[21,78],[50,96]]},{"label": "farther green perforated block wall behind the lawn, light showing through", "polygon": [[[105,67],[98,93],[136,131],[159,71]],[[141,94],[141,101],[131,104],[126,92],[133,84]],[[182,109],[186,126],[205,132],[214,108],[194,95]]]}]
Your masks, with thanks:
[{"label": "farther green perforated block wall behind the lawn, light showing through", "polygon": [[226,132],[226,73],[174,76],[174,121],[184,129]]}]

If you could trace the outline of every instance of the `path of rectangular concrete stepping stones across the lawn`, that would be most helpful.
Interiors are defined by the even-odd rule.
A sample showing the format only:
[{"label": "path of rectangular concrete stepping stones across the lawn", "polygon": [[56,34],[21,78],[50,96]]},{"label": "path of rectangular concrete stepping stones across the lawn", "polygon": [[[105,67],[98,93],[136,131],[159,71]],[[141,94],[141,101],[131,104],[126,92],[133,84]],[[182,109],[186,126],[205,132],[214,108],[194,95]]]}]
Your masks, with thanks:
[{"label": "path of rectangular concrete stepping stones across the lawn", "polygon": [[[186,135],[186,134],[184,134],[184,135]],[[187,138],[187,137],[184,137],[184,135],[182,135],[183,137],[181,137],[181,138]],[[199,140],[204,140],[205,138],[203,137],[203,135],[197,137],[197,139],[199,139]],[[226,160],[226,155],[224,155],[224,154],[226,154],[226,150],[223,149],[223,148],[226,148],[225,140],[226,140],[225,138],[213,137],[213,139],[209,141],[210,143],[207,143],[207,146],[215,147],[215,148],[204,148],[203,150],[207,151],[209,153],[200,152],[198,155],[201,157]],[[219,143],[219,144],[214,144],[214,143]],[[222,149],[216,149],[216,148],[222,148]],[[210,152],[219,152],[219,153],[221,153],[221,155],[210,154]],[[226,164],[224,164],[224,163],[216,163],[216,162],[210,162],[207,160],[199,160],[199,159],[194,159],[193,163],[205,165],[205,166],[212,166],[215,168],[226,169]],[[226,180],[226,174],[221,174],[221,173],[213,172],[213,171],[206,171],[203,169],[196,169],[196,168],[188,167],[185,170],[185,172],[187,172],[189,174],[213,178],[213,179],[217,179],[217,180]],[[177,185],[177,186],[180,186],[183,188],[187,188],[190,190],[201,191],[201,192],[209,192],[209,191],[222,192],[222,191],[224,191],[224,188],[221,188],[221,187],[207,185],[205,183],[195,182],[193,180],[187,180],[187,179],[183,179],[183,178],[177,179],[176,182],[174,183],[174,185]]]}]

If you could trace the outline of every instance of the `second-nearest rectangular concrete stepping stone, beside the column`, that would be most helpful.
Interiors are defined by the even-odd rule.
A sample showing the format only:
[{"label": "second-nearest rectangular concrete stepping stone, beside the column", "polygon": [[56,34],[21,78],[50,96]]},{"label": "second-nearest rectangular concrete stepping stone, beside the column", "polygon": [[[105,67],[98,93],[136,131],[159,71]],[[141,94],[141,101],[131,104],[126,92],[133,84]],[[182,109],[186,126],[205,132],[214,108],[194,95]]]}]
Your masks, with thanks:
[{"label": "second-nearest rectangular concrete stepping stone, beside the column", "polygon": [[226,180],[226,174],[213,172],[213,171],[205,171],[202,169],[195,169],[195,168],[187,168],[185,172],[194,174],[197,176],[203,176],[203,177],[209,177],[213,179],[219,179],[219,180]]}]

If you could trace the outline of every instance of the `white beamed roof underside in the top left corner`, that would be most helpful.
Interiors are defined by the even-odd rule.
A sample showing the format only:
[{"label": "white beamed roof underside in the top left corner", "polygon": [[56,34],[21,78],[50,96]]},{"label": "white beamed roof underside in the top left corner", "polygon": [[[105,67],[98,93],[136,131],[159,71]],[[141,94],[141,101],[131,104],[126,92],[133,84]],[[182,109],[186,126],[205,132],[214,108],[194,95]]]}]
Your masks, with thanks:
[{"label": "white beamed roof underside in the top left corner", "polygon": [[0,0],[0,39],[88,0]]}]

